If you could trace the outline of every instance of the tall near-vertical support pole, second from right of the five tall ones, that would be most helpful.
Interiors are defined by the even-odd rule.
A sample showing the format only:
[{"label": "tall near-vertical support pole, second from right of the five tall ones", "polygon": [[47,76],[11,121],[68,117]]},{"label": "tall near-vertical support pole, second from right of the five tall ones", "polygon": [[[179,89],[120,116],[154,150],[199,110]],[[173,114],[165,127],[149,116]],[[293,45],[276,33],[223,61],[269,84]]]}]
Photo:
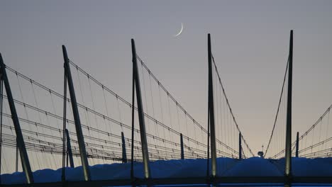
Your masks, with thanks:
[{"label": "tall near-vertical support pole, second from right of the five tall ones", "polygon": [[211,175],[216,177],[216,130],[214,125],[214,84],[212,77],[212,52],[211,52],[211,36],[208,34],[208,58],[209,58],[209,127],[211,130]]}]

